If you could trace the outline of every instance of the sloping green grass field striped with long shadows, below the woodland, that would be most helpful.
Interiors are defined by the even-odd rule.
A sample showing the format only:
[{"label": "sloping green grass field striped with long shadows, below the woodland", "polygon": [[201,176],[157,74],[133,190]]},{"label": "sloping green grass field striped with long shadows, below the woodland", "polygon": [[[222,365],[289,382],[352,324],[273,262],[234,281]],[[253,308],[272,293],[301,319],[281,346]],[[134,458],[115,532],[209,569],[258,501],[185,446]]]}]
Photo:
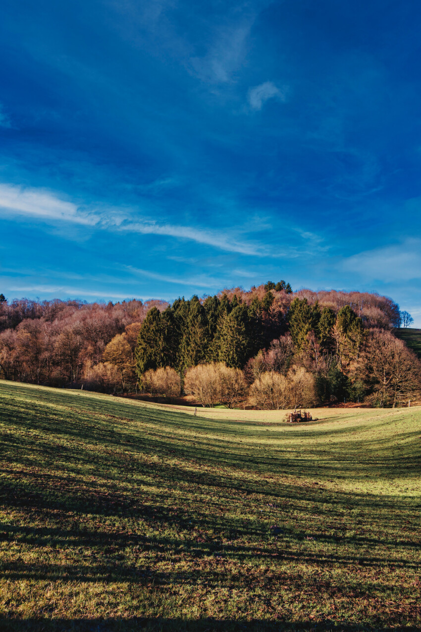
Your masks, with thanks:
[{"label": "sloping green grass field striped with long shadows, below the woodland", "polygon": [[421,408],[192,413],[0,382],[2,632],[421,629]]}]

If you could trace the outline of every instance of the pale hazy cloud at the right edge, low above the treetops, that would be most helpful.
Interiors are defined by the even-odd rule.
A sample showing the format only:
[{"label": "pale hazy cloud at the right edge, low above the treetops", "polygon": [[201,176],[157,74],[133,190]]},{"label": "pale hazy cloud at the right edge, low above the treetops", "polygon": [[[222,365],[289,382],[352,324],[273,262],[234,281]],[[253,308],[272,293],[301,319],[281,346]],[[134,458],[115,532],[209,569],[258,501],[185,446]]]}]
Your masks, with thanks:
[{"label": "pale hazy cloud at the right edge, low above the treetops", "polygon": [[345,270],[384,283],[421,279],[421,240],[408,239],[399,245],[360,252],[342,265]]}]

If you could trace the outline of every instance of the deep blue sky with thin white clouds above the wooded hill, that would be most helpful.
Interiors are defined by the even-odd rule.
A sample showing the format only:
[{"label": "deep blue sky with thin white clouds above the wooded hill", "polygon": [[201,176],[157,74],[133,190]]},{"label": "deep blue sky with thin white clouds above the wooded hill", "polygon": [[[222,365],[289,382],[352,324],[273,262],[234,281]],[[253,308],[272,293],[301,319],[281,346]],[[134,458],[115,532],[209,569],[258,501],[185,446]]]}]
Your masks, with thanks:
[{"label": "deep blue sky with thin white clouds above the wooded hill", "polygon": [[282,278],[421,327],[421,5],[2,6],[4,295]]}]

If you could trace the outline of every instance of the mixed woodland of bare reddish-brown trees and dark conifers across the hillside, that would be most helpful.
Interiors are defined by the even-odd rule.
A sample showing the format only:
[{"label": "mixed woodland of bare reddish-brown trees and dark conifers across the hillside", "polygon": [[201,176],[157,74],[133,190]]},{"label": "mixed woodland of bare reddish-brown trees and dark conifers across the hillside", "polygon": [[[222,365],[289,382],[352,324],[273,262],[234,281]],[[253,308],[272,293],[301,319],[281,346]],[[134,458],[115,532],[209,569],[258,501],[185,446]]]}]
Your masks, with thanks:
[{"label": "mixed woodland of bare reddish-brown trees and dark conifers across the hillside", "polygon": [[421,365],[390,298],[285,281],[190,300],[7,301],[0,377],[168,400],[291,408],[416,399]]}]

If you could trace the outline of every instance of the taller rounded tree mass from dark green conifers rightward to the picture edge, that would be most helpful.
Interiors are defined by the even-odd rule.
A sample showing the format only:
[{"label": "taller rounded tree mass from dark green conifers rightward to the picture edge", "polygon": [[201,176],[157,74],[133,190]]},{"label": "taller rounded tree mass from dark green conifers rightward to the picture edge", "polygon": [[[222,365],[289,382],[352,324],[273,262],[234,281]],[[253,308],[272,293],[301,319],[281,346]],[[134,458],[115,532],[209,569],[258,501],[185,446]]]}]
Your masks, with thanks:
[{"label": "taller rounded tree mass from dark green conifers rightward to the picture edge", "polygon": [[135,352],[140,384],[145,374],[150,382],[154,370],[172,368],[181,390],[211,406],[229,378],[248,403],[272,409],[364,399],[396,406],[418,396],[420,363],[390,325],[369,327],[350,305],[335,310],[299,296],[282,312],[275,288],[264,289],[248,302],[225,293],[151,310]]}]

